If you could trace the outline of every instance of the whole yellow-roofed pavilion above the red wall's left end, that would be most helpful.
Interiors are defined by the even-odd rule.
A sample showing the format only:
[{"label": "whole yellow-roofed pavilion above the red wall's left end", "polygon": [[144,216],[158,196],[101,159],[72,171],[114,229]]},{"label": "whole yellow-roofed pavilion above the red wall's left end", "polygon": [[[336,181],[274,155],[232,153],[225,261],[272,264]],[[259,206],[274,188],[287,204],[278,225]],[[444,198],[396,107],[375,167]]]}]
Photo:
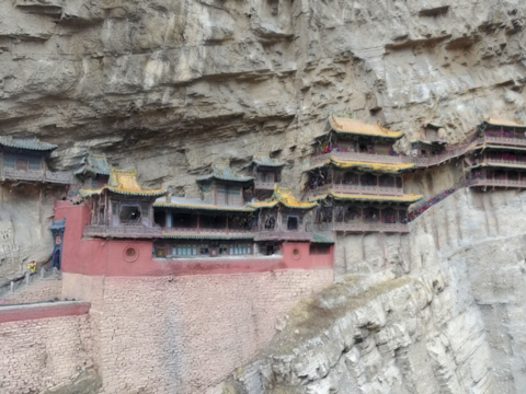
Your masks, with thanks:
[{"label": "whole yellow-roofed pavilion above the red wall's left end", "polygon": [[91,213],[84,236],[161,237],[161,228],[153,222],[152,205],[167,193],[144,188],[137,182],[136,170],[111,169],[107,185],[80,189]]}]

